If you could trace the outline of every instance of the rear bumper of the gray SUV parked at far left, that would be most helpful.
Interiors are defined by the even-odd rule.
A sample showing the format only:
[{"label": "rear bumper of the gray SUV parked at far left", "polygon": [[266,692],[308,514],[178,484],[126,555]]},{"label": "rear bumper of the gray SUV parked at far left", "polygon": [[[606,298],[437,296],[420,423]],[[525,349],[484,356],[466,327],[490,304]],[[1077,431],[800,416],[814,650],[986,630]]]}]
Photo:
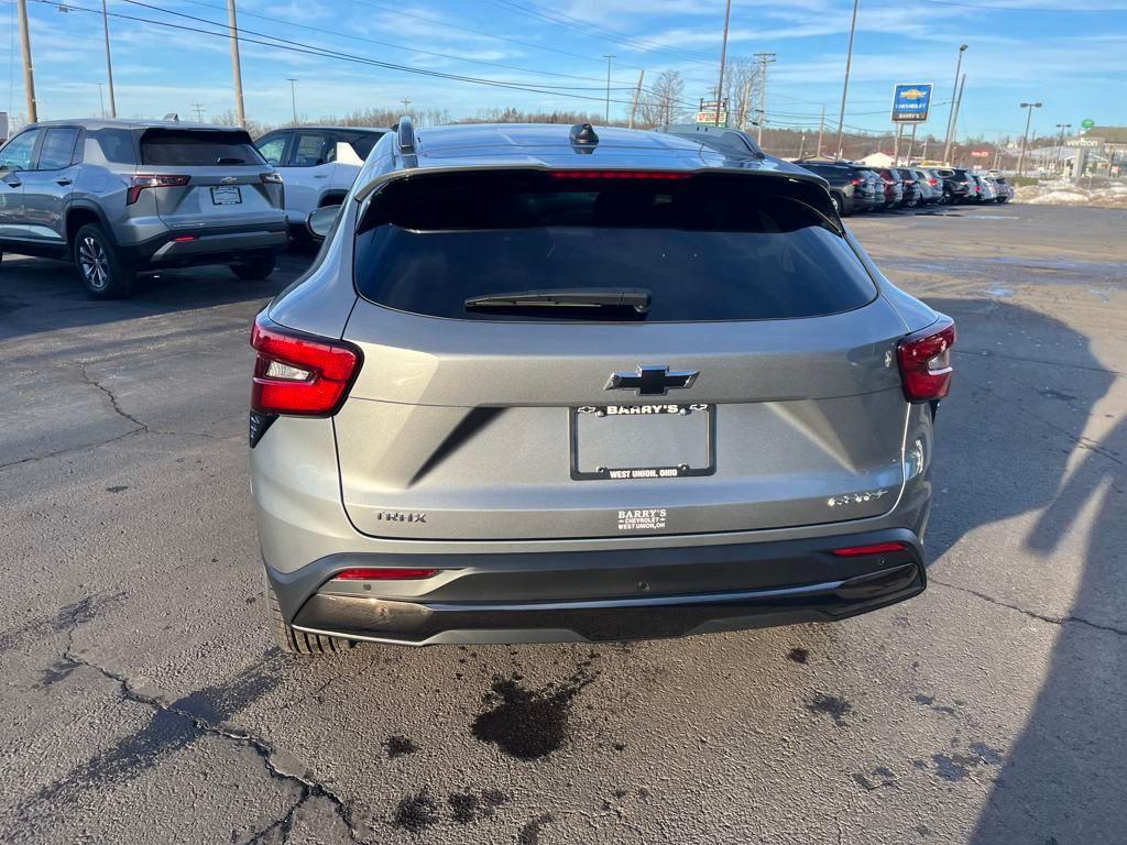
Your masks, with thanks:
[{"label": "rear bumper of the gray SUV parked at far left", "polygon": [[251,226],[172,229],[124,249],[135,266],[186,267],[228,264],[250,254],[281,249],[287,241],[285,221],[279,217],[277,223]]}]

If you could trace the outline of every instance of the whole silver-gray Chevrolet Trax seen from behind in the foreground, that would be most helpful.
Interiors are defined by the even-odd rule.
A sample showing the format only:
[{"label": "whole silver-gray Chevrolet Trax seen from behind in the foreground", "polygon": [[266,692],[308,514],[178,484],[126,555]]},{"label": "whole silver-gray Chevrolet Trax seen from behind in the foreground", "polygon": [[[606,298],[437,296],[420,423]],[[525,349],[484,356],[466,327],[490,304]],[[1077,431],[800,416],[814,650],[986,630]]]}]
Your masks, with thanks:
[{"label": "whole silver-gray Chevrolet Trax seen from behind in the foreground", "polygon": [[381,139],[251,335],[283,649],[677,637],[924,589],[955,326],[819,178],[734,162],[586,124]]}]

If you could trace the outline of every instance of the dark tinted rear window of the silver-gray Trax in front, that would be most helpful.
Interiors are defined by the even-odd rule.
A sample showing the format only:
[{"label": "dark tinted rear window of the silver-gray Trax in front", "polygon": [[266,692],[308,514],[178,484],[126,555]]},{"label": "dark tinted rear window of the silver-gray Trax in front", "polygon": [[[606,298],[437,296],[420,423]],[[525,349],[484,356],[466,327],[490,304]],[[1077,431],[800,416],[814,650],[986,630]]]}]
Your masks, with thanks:
[{"label": "dark tinted rear window of the silver-gray Trax in front", "polygon": [[[824,208],[822,212],[818,208]],[[408,177],[356,232],[364,297],[432,317],[487,320],[764,320],[859,308],[877,294],[824,216],[817,185],[762,177]],[[642,287],[631,308],[467,308],[530,290]]]}]

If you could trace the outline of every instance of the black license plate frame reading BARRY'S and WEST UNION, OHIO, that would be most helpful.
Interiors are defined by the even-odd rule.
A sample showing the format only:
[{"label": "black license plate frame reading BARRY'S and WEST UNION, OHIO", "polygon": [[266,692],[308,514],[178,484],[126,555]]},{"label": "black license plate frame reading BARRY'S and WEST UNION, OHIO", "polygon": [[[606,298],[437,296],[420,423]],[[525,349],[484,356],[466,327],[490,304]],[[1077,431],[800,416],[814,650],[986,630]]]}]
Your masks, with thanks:
[{"label": "black license plate frame reading BARRY'S and WEST UNION, OHIO", "polygon": [[[609,409],[614,408],[616,412],[611,413]],[[662,409],[642,413],[630,411],[632,408]],[[624,409],[624,410],[623,410]],[[674,410],[675,409],[675,410]],[[592,415],[595,418],[609,421],[612,417],[662,417],[665,415],[703,415],[707,417],[704,424],[700,426],[704,436],[706,460],[698,465],[689,463],[659,462],[658,465],[623,465],[623,466],[597,466],[592,469],[580,469],[580,438],[579,417],[580,415]],[[701,478],[716,473],[716,417],[717,407],[711,403],[694,402],[692,404],[667,403],[630,403],[616,406],[582,406],[569,409],[568,434],[570,442],[570,473],[573,481],[645,481],[651,479],[676,479],[676,478]]]}]

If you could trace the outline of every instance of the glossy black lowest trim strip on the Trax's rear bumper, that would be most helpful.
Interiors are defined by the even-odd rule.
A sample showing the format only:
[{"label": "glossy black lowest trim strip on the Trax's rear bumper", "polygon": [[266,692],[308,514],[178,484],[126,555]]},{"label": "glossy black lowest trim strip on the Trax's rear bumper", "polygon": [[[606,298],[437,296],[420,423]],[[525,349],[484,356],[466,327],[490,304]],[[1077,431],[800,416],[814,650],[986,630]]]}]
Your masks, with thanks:
[{"label": "glossy black lowest trim strip on the Trax's rear bumper", "polygon": [[740,593],[587,602],[432,603],[313,595],[293,624],[361,640],[440,642],[621,641],[835,621],[923,592],[920,561],[842,581]]}]

